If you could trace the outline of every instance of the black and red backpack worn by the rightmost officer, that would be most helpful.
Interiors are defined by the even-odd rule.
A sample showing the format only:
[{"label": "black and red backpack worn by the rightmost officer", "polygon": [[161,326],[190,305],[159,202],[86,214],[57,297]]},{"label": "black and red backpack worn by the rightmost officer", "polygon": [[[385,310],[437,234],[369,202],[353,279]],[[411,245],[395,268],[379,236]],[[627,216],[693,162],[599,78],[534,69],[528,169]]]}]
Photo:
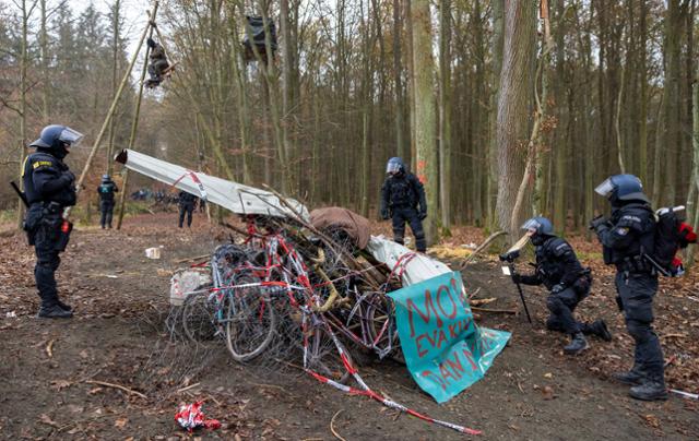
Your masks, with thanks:
[{"label": "black and red backpack worn by the rightmost officer", "polygon": [[684,206],[660,208],[655,212],[655,245],[653,259],[657,270],[667,277],[677,277],[685,273],[682,260],[676,255],[679,249],[697,242],[697,234],[689,224],[680,221],[677,212]]}]

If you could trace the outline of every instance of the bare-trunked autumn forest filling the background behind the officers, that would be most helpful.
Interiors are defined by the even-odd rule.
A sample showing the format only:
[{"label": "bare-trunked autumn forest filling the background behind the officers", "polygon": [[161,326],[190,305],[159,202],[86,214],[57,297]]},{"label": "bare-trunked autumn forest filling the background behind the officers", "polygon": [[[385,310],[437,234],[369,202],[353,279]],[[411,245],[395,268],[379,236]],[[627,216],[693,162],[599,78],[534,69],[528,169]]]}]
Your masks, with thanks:
[{"label": "bare-trunked autumn forest filling the background behind the officers", "polygon": [[[697,0],[158,7],[177,67],[144,92],[140,152],[372,218],[386,162],[401,156],[425,182],[431,240],[452,225],[516,233],[533,213],[559,231],[583,231],[608,210],[594,187],[621,171],[641,178],[655,207],[685,204],[697,224]],[[0,1],[5,217],[21,215],[5,182],[17,179],[44,126],[86,134],[68,158],[82,169],[154,4],[142,2],[140,15],[133,8],[107,0],[76,13],[68,1]],[[273,62],[242,60],[246,15],[274,22]],[[121,171],[108,158],[129,143],[145,60],[143,46],[83,208],[95,203],[103,172]],[[143,186],[153,183],[132,177],[126,191]]]}]

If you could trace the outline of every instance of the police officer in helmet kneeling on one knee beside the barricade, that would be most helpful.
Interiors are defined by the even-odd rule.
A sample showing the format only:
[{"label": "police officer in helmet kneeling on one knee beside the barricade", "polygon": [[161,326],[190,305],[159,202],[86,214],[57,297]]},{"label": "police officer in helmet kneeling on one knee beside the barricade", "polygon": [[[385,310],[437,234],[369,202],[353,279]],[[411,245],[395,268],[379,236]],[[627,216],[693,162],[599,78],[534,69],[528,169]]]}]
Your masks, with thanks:
[{"label": "police officer in helmet kneeling on one knee beside the barricade", "polygon": [[512,281],[524,285],[544,284],[550,291],[546,300],[550,311],[546,327],[571,336],[564,353],[577,355],[585,350],[589,347],[585,334],[611,341],[612,334],[603,320],[581,323],[572,315],[578,303],[590,294],[592,276],[589,269],[582,267],[570,243],[554,234],[554,226],[546,217],[532,217],[522,229],[536,247],[536,270],[532,275],[513,273]]}]

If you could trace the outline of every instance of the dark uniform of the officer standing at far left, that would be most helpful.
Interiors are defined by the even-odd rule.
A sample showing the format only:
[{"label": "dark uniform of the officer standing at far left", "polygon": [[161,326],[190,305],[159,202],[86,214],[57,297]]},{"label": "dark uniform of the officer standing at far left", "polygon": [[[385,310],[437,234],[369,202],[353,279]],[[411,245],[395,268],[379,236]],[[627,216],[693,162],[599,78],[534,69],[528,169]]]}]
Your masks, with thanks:
[{"label": "dark uniform of the officer standing at far left", "polygon": [[42,309],[48,310],[61,305],[55,273],[70,234],[61,231],[61,216],[66,206],[75,205],[75,176],[50,151],[39,148],[24,162],[22,180],[29,203],[24,229],[36,252],[34,277]]}]

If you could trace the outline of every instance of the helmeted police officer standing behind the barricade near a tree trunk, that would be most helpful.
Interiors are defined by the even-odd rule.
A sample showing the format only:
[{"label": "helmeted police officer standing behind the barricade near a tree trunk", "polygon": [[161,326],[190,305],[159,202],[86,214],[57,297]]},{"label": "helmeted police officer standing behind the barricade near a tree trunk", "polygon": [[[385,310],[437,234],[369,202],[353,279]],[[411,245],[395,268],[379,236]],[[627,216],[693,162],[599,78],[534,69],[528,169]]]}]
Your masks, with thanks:
[{"label": "helmeted police officer standing behind the barricade near a tree trunk", "polygon": [[[405,170],[403,159],[392,157],[386,166],[389,175],[381,187],[381,218],[393,221],[393,240],[403,243],[405,223],[415,236],[415,249],[427,250],[423,219],[427,217],[427,201],[423,183],[412,172]],[[418,210],[419,204],[419,210]]]}]

